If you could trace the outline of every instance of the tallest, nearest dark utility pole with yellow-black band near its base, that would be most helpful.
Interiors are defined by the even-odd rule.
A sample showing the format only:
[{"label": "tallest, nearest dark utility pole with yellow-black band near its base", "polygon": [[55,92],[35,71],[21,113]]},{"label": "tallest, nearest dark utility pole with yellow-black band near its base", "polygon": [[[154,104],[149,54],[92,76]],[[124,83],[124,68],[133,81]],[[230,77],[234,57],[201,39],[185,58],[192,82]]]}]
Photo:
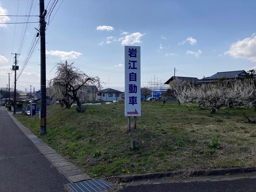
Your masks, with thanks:
[{"label": "tallest, nearest dark utility pole with yellow-black band near its base", "polygon": [[41,111],[40,111],[40,134],[46,134],[46,58],[45,58],[45,15],[44,0],[39,0],[39,23],[40,23],[40,58],[41,58]]}]

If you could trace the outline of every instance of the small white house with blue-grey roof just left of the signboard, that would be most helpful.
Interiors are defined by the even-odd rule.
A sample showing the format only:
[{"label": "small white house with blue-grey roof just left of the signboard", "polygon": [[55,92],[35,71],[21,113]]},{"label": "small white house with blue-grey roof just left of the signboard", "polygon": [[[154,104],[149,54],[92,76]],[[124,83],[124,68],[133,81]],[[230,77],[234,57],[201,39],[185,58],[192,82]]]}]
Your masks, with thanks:
[{"label": "small white house with blue-grey roof just left of the signboard", "polygon": [[106,88],[103,90],[100,90],[98,93],[98,100],[103,101],[120,101],[122,100],[122,94],[123,92],[114,90],[112,88]]}]

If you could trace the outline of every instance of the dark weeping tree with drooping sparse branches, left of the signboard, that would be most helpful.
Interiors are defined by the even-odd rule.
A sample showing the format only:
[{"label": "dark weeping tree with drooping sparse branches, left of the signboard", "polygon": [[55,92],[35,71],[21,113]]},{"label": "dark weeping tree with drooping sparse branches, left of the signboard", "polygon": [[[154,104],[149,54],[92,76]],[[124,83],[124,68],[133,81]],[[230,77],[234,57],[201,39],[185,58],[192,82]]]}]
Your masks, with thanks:
[{"label": "dark weeping tree with drooping sparse branches, left of the signboard", "polygon": [[98,77],[90,77],[74,66],[74,62],[68,64],[57,63],[55,78],[49,80],[49,95],[60,104],[64,104],[66,108],[70,108],[76,102],[77,111],[83,112],[81,109],[79,90],[82,86],[87,86],[99,81]]}]

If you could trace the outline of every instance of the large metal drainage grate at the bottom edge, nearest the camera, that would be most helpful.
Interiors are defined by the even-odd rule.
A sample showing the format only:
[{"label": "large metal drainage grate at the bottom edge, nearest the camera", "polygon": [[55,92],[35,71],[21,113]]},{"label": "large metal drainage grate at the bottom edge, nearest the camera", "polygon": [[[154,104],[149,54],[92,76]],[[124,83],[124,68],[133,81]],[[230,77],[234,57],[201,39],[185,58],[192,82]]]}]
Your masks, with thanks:
[{"label": "large metal drainage grate at the bottom edge, nearest the camera", "polygon": [[72,192],[97,192],[112,188],[113,186],[102,179],[95,179],[68,184],[68,187]]}]

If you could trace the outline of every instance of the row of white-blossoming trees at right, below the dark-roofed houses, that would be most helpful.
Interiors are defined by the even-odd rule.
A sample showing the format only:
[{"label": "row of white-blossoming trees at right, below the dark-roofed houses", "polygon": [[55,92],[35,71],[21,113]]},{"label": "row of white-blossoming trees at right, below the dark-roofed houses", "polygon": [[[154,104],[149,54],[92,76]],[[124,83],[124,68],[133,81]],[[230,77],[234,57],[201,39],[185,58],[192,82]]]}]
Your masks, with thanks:
[{"label": "row of white-blossoming trees at right, below the dark-roofed houses", "polygon": [[201,87],[186,85],[176,93],[182,103],[198,102],[211,113],[222,106],[247,106],[256,110],[256,83],[252,79],[218,82]]}]

